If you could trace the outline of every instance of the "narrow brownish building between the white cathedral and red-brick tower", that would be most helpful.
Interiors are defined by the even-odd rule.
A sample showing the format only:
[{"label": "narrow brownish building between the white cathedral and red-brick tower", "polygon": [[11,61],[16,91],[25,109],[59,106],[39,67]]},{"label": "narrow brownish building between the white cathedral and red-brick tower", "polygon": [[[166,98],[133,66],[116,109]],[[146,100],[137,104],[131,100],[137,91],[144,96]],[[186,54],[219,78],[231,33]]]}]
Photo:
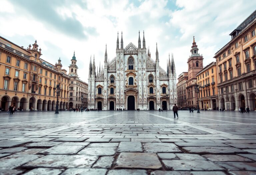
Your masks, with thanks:
[{"label": "narrow brownish building between the white cathedral and red-brick tower", "polygon": [[188,72],[182,72],[178,77],[177,83],[177,105],[180,108],[187,107],[186,83],[188,80]]}]

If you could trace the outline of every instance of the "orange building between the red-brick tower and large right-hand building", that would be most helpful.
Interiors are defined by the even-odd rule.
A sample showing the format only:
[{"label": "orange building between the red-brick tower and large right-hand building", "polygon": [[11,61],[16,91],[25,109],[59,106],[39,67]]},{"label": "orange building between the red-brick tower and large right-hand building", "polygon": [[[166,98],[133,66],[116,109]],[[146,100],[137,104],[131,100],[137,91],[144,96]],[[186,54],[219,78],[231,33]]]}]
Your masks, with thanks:
[{"label": "orange building between the red-brick tower and large right-hand building", "polygon": [[199,108],[205,110],[218,110],[218,88],[216,62],[205,66],[198,74],[197,84],[202,86],[199,96]]}]

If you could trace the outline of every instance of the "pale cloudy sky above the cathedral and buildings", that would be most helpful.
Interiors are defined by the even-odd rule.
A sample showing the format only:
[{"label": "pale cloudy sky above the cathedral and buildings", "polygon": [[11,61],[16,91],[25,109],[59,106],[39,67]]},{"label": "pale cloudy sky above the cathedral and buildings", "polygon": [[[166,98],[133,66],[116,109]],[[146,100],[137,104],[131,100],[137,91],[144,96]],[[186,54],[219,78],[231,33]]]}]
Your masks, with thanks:
[{"label": "pale cloudy sky above the cathedral and buildings", "polygon": [[[75,51],[78,75],[88,82],[90,57],[97,66],[116,56],[117,32],[123,32],[124,48],[138,46],[145,32],[146,48],[155,60],[156,42],[160,66],[166,70],[173,53],[176,74],[188,70],[193,36],[204,57],[204,66],[231,39],[229,34],[256,7],[250,0],[0,0],[0,36],[27,48],[37,40],[41,58],[63,69]],[[121,36],[119,35],[119,41]]]}]

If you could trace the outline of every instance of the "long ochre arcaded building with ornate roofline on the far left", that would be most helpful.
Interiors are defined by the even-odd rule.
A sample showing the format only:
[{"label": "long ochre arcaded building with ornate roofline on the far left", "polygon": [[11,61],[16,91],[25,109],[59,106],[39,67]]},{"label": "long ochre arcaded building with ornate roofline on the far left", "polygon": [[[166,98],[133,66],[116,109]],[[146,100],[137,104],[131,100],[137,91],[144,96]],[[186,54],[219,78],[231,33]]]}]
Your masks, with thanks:
[{"label": "long ochre arcaded building with ornate roofline on the far left", "polygon": [[53,88],[60,84],[59,109],[68,107],[69,77],[61,60],[55,65],[41,59],[37,42],[27,49],[0,36],[0,104],[23,111],[54,110],[57,102]]}]

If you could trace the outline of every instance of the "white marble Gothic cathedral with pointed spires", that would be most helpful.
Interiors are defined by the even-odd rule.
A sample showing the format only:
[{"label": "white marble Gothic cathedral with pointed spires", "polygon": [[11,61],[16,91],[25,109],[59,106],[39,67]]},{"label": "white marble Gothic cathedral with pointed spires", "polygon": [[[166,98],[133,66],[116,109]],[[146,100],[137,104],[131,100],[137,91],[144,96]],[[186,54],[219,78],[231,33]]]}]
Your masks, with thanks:
[{"label": "white marble Gothic cathedral with pointed spires", "polygon": [[109,61],[107,46],[104,68],[97,69],[95,59],[90,60],[88,78],[88,108],[99,110],[163,110],[172,109],[177,103],[176,72],[173,55],[169,54],[167,71],[159,66],[156,44],[156,58],[151,58],[143,32],[140,32],[138,47],[129,43],[123,47],[117,34],[116,57]]}]

